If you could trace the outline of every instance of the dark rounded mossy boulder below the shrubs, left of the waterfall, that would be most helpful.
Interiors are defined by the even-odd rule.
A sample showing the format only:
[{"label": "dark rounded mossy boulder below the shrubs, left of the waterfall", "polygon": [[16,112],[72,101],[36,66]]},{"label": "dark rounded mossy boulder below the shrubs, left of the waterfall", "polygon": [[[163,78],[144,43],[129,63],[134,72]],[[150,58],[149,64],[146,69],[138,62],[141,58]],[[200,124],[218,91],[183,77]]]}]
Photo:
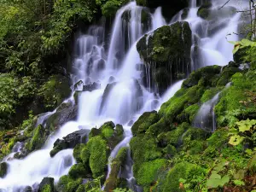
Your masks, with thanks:
[{"label": "dark rounded mossy boulder below the shrubs, left of the waterfall", "polygon": [[53,110],[71,94],[69,79],[60,74],[49,77],[39,89],[44,108]]}]

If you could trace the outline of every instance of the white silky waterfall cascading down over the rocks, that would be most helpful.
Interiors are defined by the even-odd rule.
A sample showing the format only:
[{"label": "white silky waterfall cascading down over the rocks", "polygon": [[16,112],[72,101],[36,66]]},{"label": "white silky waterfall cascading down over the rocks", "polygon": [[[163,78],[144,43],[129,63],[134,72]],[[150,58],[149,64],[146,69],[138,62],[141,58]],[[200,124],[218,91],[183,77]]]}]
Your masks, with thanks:
[{"label": "white silky waterfall cascading down over the rocks", "polygon": [[[214,12],[223,1],[212,0],[212,3]],[[238,8],[237,4],[232,6]],[[194,68],[214,64],[226,65],[232,60],[233,47],[225,38],[228,33],[237,32],[237,20],[240,15],[223,16],[215,22],[210,22],[198,17],[197,10],[196,1],[190,0],[189,15],[184,19],[189,22],[193,32],[195,44],[191,48],[191,56]],[[57,182],[59,177],[67,174],[69,168],[75,163],[73,150],[62,150],[53,158],[50,158],[49,151],[57,138],[65,137],[81,127],[86,129],[99,127],[109,120],[115,124],[124,125],[125,139],[111,153],[111,157],[115,157],[119,148],[129,144],[132,137],[131,125],[139,115],[159,109],[161,103],[166,102],[180,89],[182,81],[174,84],[170,90],[166,90],[166,95],[160,98],[157,92],[143,86],[143,67],[137,53],[137,40],[142,38],[144,33],[152,34],[154,29],[166,25],[166,20],[162,17],[159,8],[155,9],[154,13],[148,13],[148,23],[142,23],[142,11],[148,11],[148,9],[137,6],[135,2],[128,3],[119,9],[109,40],[105,37],[104,26],[90,26],[88,32],[77,39],[71,75],[73,84],[79,80],[84,84],[96,83],[99,85],[97,90],[82,92],[79,96],[78,119],[68,122],[52,134],[41,150],[29,154],[24,160],[4,159],[9,164],[9,172],[6,177],[0,178],[0,189],[20,191],[27,185],[36,188],[44,177],[55,177]],[[180,11],[174,16],[172,22],[182,20],[182,13],[183,11]],[[214,30],[211,28],[213,26],[215,26]],[[210,29],[214,31],[211,34],[209,34]],[[229,40],[236,39],[236,35],[229,37]],[[149,71],[150,68],[147,76]],[[82,89],[83,86],[79,85],[79,90]],[[73,96],[68,100],[73,102]],[[42,115],[38,119],[38,124],[44,124],[45,119],[52,113]],[[13,154],[10,157],[13,157]],[[131,155],[128,160],[125,178],[131,181],[130,183],[134,183]],[[110,171],[109,166],[108,172]]]}]

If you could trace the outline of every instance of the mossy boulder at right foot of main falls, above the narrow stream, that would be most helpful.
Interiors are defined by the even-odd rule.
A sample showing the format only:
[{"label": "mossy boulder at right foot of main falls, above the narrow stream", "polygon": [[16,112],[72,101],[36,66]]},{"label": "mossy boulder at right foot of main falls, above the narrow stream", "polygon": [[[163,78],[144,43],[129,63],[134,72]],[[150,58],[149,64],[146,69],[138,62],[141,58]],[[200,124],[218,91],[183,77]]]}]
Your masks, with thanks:
[{"label": "mossy boulder at right foot of main falls, above the narrow stream", "polygon": [[139,119],[132,125],[131,131],[134,136],[140,133],[144,133],[148,130],[150,125],[158,122],[159,117],[156,111],[145,112]]}]

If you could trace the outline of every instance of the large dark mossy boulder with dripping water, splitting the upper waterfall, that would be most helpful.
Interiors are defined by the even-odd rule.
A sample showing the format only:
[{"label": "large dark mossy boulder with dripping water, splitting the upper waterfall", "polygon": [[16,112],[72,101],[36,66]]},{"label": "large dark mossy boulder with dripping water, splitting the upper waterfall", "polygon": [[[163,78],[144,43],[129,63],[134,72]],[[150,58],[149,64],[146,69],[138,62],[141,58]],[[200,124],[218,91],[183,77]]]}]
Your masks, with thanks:
[{"label": "large dark mossy boulder with dripping water, splitting the upper waterfall", "polygon": [[158,84],[160,93],[190,73],[191,34],[188,22],[176,22],[138,41],[137,51],[144,64],[155,69],[150,72],[151,79]]}]

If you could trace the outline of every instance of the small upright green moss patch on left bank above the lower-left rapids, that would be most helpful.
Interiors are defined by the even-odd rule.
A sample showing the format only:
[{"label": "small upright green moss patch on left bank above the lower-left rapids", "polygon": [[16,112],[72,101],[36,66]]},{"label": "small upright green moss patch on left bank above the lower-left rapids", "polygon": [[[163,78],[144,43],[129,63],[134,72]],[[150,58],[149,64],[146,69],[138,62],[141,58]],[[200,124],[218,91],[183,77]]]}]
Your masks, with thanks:
[{"label": "small upright green moss patch on left bank above the lower-left rapids", "polygon": [[27,146],[29,151],[41,148],[44,145],[46,137],[44,126],[38,125],[38,127],[33,131],[33,137]]}]

